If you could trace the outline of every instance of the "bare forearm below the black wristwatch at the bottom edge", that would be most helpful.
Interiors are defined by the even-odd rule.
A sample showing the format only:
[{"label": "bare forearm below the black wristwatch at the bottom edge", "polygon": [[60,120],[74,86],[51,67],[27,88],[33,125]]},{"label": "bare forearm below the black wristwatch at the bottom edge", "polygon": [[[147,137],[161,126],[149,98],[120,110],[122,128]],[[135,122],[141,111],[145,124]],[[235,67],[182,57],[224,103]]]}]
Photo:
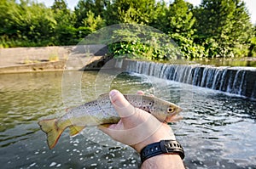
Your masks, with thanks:
[{"label": "bare forearm below the black wristwatch at the bottom edge", "polygon": [[183,161],[179,155],[156,155],[143,162],[142,169],[183,169]]}]

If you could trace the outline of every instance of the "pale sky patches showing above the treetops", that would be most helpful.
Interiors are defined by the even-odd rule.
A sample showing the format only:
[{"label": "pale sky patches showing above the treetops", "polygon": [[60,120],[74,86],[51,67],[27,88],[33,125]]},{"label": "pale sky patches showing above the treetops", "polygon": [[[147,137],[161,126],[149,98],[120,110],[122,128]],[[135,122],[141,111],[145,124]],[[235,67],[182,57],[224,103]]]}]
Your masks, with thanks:
[{"label": "pale sky patches showing above the treetops", "polygon": [[[79,0],[66,0],[66,2],[68,7],[73,9],[78,4]],[[199,5],[201,3],[201,0],[187,0],[187,2],[192,3],[194,5]],[[251,14],[252,23],[255,25],[256,24],[256,1],[244,0],[244,2],[247,4],[247,9]],[[54,3],[54,0],[38,0],[38,3],[44,3],[47,7],[50,7]]]}]

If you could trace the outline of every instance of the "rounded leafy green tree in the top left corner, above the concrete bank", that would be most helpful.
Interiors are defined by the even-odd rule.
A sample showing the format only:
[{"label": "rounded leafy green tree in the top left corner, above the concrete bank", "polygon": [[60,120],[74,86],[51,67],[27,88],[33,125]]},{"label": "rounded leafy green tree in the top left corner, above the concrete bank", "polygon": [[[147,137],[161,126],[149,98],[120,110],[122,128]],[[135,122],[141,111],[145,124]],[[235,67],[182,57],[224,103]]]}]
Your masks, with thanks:
[{"label": "rounded leafy green tree in the top left corner, above the concrete bank", "polygon": [[1,43],[3,46],[42,46],[50,44],[56,25],[53,14],[43,4],[29,1],[1,1]]}]

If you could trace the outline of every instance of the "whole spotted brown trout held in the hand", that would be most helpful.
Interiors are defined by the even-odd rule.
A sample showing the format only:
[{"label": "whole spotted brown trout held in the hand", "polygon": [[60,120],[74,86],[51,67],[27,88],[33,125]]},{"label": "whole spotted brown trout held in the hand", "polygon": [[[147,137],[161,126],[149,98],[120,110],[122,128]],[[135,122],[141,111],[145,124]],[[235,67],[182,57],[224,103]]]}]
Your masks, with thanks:
[{"label": "whole spotted brown trout held in the hand", "polygon": [[[154,96],[127,94],[124,95],[134,107],[147,111],[159,121],[177,121],[177,114],[181,109],[170,102]],[[38,121],[38,125],[47,135],[49,149],[57,144],[61,133],[69,127],[70,136],[75,136],[84,127],[118,123],[120,117],[114,110],[108,94],[101,95],[98,99],[67,110],[65,115],[56,119]]]}]

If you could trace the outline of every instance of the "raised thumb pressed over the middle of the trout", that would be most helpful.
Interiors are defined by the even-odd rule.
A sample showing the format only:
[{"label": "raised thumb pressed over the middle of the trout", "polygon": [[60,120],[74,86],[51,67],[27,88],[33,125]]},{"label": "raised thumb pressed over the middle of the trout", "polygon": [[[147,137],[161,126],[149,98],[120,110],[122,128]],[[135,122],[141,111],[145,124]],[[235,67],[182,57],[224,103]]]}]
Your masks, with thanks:
[{"label": "raised thumb pressed over the middle of the trout", "polygon": [[128,117],[135,113],[135,108],[125,99],[124,95],[118,90],[112,90],[109,98],[113,104],[113,108],[117,111],[121,118]]}]

